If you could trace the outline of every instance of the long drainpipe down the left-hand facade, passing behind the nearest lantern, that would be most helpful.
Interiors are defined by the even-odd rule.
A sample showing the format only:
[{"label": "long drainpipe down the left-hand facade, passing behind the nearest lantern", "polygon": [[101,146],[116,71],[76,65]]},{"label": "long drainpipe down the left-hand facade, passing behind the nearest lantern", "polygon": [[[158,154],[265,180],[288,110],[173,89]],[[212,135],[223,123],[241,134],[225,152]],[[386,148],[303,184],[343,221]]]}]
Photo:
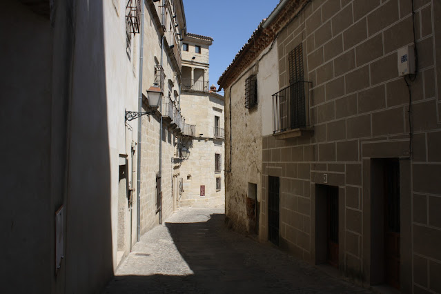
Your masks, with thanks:
[{"label": "long drainpipe down the left-hand facade, passing behind the nearest lantern", "polygon": [[[142,111],[142,61],[144,55],[144,1],[141,5],[141,36],[139,49],[139,77],[138,77],[138,112]],[[138,118],[138,146],[137,146],[137,219],[136,219],[136,242],[141,239],[141,126],[142,119]],[[130,242],[132,242],[130,240]]]}]

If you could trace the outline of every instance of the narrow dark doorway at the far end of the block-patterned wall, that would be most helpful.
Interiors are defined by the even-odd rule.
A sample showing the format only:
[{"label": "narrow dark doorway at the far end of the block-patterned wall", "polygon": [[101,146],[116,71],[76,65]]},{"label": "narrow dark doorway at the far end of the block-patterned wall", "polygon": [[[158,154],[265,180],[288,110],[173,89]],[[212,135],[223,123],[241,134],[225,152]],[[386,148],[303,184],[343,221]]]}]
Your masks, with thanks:
[{"label": "narrow dark doorway at the far end of the block-patterned wall", "polygon": [[279,245],[280,178],[268,177],[268,240]]}]

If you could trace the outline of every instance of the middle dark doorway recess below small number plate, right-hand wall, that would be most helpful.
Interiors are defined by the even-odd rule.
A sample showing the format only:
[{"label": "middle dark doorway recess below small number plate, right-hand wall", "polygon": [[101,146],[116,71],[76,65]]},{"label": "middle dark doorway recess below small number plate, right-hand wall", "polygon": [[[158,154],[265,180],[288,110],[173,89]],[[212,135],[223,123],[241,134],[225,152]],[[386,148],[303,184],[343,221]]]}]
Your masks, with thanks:
[{"label": "middle dark doorway recess below small number plate, right-hand wall", "polygon": [[316,264],[338,268],[338,187],[315,185]]}]

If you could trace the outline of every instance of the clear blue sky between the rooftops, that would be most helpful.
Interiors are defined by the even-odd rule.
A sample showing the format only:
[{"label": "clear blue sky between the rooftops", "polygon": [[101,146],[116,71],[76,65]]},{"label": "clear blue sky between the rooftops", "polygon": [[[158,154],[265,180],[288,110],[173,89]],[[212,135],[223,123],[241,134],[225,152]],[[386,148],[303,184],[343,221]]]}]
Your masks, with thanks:
[{"label": "clear blue sky between the rooftops", "polygon": [[183,0],[187,32],[214,39],[210,46],[210,86],[266,19],[279,0]]}]

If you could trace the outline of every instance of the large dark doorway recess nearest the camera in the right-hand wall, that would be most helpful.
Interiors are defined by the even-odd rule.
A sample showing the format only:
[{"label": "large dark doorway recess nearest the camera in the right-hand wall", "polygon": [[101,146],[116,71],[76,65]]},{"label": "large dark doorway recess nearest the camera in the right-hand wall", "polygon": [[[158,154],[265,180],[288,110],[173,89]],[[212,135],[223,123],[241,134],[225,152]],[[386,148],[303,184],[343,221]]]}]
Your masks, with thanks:
[{"label": "large dark doorway recess nearest the camera in the right-hand wall", "polygon": [[371,284],[400,288],[400,161],[372,159]]}]

